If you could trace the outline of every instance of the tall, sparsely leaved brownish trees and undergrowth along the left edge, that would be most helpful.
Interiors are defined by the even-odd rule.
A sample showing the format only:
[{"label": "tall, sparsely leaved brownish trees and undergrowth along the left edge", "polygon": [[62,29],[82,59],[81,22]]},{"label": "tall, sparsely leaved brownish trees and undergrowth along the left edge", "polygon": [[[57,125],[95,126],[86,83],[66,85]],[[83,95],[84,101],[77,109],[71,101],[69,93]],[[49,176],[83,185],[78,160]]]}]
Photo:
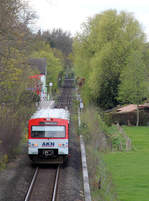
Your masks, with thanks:
[{"label": "tall, sparsely leaved brownish trees and undergrowth along the left edge", "polygon": [[26,62],[34,39],[28,28],[32,17],[22,0],[0,0],[0,155],[10,157],[35,110],[33,101],[29,107],[20,101],[33,73]]}]

